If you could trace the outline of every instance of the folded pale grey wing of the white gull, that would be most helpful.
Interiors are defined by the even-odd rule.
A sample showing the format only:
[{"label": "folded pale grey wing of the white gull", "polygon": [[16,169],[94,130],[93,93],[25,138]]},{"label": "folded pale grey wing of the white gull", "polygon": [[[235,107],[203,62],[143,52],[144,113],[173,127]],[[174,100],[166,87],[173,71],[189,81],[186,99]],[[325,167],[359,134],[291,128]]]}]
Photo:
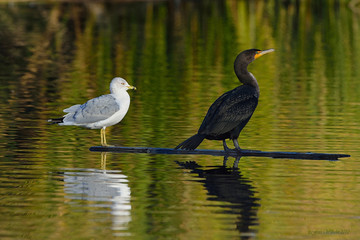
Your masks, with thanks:
[{"label": "folded pale grey wing of the white gull", "polygon": [[72,121],[78,124],[102,121],[112,116],[119,109],[120,106],[113,96],[110,94],[102,95],[80,105],[74,111]]}]

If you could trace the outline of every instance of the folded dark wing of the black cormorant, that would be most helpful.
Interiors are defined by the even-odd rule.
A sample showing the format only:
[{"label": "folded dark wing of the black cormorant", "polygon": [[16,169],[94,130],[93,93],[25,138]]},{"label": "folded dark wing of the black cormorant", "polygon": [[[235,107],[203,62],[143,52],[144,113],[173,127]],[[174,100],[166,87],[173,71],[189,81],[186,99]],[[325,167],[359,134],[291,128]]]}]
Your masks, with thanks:
[{"label": "folded dark wing of the black cormorant", "polygon": [[224,93],[210,106],[199,133],[221,135],[246,124],[257,103],[258,93],[251,86],[242,85]]}]

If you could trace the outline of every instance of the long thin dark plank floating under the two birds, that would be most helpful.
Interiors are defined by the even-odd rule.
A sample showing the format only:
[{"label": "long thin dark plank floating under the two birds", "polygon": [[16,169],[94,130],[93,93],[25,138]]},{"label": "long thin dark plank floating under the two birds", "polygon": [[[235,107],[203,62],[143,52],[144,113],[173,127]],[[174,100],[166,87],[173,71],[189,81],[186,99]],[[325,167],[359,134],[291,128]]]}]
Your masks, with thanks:
[{"label": "long thin dark plank floating under the two birds", "polygon": [[147,153],[147,154],[186,154],[186,155],[212,155],[212,156],[253,156],[270,158],[290,158],[290,159],[313,159],[313,160],[338,160],[343,157],[350,157],[347,154],[333,153],[299,153],[299,152],[263,152],[258,150],[243,149],[241,153],[235,150],[225,152],[223,150],[181,150],[173,148],[151,148],[151,147],[121,147],[121,146],[94,146],[90,148],[93,152],[119,152],[119,153]]}]

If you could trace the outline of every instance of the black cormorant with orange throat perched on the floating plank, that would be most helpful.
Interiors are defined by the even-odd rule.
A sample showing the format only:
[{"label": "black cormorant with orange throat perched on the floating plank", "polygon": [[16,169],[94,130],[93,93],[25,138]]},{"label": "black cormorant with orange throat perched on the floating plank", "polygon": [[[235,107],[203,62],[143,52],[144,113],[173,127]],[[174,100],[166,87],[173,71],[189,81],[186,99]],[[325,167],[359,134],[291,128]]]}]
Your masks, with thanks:
[{"label": "black cormorant with orange throat perched on the floating plank", "polygon": [[229,148],[226,139],[234,142],[235,149],[241,151],[237,141],[241,130],[250,120],[259,99],[259,85],[247,66],[258,57],[273,52],[274,49],[261,51],[248,49],[235,59],[235,74],[243,85],[224,93],[210,106],[197,134],[180,143],[175,149],[193,150],[206,138],[223,140],[225,151]]}]

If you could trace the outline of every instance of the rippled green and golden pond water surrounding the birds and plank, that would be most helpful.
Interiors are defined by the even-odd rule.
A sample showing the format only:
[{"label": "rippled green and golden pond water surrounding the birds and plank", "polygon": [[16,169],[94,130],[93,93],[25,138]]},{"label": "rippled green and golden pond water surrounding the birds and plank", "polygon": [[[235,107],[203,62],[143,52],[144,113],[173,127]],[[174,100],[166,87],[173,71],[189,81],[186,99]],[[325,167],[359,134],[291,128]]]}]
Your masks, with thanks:
[{"label": "rippled green and golden pond water surrounding the birds and plank", "polygon": [[[360,239],[360,13],[349,1],[0,3],[0,239]],[[137,87],[110,144],[175,147],[238,86],[259,105],[240,146],[339,161],[101,154],[100,131],[48,125]],[[232,146],[232,144],[230,145]],[[222,149],[204,141],[202,149]]]}]

